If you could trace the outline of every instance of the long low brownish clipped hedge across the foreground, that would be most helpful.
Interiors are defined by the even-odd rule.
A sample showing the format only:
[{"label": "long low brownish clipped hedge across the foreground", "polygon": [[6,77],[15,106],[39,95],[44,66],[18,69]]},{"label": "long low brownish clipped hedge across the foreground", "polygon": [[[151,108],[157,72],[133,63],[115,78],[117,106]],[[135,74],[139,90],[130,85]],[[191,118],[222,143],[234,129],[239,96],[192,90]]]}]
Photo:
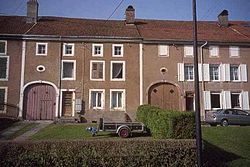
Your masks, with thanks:
[{"label": "long low brownish clipped hedge across the foreground", "polygon": [[0,166],[195,166],[195,140],[1,142]]}]

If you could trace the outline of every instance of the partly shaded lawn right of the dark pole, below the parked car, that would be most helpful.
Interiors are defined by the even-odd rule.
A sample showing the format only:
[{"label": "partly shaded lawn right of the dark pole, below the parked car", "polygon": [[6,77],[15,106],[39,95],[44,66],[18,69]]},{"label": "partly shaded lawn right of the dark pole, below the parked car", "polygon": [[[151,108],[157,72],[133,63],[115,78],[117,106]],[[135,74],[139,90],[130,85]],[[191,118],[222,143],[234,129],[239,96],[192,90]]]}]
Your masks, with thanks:
[{"label": "partly shaded lawn right of the dark pole, below the parked car", "polygon": [[[227,166],[250,166],[250,127],[202,127],[206,153]],[[211,149],[211,153],[209,153]],[[205,157],[205,159],[208,157]]]}]

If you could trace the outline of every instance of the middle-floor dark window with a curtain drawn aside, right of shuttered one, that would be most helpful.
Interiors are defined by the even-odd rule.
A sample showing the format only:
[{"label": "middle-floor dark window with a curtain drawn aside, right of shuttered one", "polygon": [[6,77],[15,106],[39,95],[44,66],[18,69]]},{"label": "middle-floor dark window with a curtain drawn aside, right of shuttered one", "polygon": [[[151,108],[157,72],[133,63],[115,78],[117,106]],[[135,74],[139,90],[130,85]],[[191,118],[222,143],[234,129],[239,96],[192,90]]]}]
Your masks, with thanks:
[{"label": "middle-floor dark window with a curtain drawn aside, right of shuttered one", "polygon": [[111,61],[111,81],[125,80],[125,62]]}]

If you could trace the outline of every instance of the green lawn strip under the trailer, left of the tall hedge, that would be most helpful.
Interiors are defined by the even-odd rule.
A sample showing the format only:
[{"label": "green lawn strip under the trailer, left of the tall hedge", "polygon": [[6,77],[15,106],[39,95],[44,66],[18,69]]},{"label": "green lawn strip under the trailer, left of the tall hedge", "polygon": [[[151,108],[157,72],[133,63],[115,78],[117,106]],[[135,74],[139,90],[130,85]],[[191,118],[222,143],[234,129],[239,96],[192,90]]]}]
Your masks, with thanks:
[{"label": "green lawn strip under the trailer, left of the tall hedge", "polygon": [[75,140],[87,138],[109,138],[108,132],[98,132],[95,137],[86,130],[86,127],[96,127],[96,124],[51,124],[42,129],[35,135],[31,136],[31,140]]}]

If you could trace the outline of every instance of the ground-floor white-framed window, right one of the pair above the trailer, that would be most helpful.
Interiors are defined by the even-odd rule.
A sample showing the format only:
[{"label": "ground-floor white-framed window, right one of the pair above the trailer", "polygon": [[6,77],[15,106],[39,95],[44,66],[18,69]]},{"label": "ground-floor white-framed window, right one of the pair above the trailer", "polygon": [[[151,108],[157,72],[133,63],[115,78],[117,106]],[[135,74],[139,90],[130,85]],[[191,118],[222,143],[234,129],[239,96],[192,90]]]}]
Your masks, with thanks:
[{"label": "ground-floor white-framed window, right one of the pair above the trailer", "polygon": [[110,90],[110,107],[111,109],[124,110],[125,109],[125,90]]}]

